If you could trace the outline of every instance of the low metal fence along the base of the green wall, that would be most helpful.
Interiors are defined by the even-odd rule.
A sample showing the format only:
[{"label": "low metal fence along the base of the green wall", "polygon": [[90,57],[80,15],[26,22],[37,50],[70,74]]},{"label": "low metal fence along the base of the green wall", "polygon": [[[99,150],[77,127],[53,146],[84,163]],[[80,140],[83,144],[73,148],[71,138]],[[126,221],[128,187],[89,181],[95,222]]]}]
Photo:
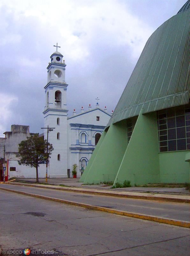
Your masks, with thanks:
[{"label": "low metal fence along the base of the green wall", "polygon": [[135,185],[184,185],[189,181],[187,173],[134,174]]}]

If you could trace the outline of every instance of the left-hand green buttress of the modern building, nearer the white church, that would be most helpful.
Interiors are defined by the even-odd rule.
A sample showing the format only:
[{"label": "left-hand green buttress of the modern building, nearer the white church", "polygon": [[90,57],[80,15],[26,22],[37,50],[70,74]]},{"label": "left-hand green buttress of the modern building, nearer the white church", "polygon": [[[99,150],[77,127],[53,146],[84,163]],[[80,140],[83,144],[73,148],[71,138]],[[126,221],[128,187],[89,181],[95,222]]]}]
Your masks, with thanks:
[{"label": "left-hand green buttress of the modern building, nearer the white church", "polygon": [[111,124],[99,150],[94,152],[96,154],[93,156],[93,162],[88,164],[90,168],[84,179],[84,184],[114,181],[126,148],[126,120]]}]

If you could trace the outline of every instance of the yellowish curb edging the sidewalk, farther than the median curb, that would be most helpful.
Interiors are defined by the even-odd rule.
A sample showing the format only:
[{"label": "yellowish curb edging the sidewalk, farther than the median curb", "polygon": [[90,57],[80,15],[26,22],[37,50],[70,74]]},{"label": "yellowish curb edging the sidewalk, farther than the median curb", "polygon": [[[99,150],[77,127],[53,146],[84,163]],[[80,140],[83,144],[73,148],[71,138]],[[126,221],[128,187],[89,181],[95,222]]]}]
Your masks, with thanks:
[{"label": "yellowish curb edging the sidewalk, farther than the median curb", "polygon": [[166,202],[175,202],[175,203],[187,203],[190,204],[190,199],[183,199],[183,198],[172,198],[172,197],[161,197],[161,196],[136,196],[136,195],[124,195],[124,194],[117,194],[117,193],[110,193],[110,192],[99,192],[99,191],[89,191],[89,190],[78,190],[76,188],[53,188],[47,187],[47,185],[33,185],[33,184],[26,184],[26,183],[7,183],[11,185],[22,185],[26,187],[34,187],[34,188],[47,188],[47,189],[55,189],[55,190],[62,190],[62,191],[69,191],[69,192],[77,192],[77,193],[84,193],[84,194],[92,194],[92,195],[99,195],[99,196],[115,196],[115,197],[124,197],[124,198],[133,198],[133,199],[143,199],[143,200],[157,200],[157,201],[166,201]]}]

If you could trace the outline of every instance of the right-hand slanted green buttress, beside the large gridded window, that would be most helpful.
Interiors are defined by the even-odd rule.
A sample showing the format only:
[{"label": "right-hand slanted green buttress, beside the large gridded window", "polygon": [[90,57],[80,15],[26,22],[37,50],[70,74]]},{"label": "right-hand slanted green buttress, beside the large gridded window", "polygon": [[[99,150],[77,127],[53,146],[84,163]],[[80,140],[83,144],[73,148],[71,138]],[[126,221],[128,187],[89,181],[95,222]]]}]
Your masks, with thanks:
[{"label": "right-hand slanted green buttress, beside the large gridded window", "polygon": [[159,173],[156,112],[144,115],[142,115],[142,112],[143,109],[141,109],[136,121],[114,184],[130,180],[131,185],[134,185],[136,174]]}]

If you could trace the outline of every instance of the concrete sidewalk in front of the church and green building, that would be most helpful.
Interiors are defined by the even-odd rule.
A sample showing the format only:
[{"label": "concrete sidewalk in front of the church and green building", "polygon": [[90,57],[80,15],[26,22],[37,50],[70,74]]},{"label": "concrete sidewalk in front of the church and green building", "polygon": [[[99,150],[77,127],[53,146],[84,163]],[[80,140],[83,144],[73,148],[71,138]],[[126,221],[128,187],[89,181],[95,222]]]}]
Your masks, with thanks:
[{"label": "concrete sidewalk in front of the church and green building", "polygon": [[[18,179],[26,182],[36,182],[36,179]],[[45,183],[46,179],[39,179],[40,183]],[[69,187],[78,187],[78,188],[91,188],[91,189],[109,189],[112,186],[106,184],[99,184],[99,185],[83,185],[83,182],[79,182],[79,178],[48,178],[48,184],[54,185],[65,185]],[[190,195],[190,192],[185,188],[160,188],[160,187],[129,187],[129,188],[114,188],[112,190],[115,191],[132,191],[132,192],[153,192],[153,193],[160,193],[160,194],[184,194]]]}]

